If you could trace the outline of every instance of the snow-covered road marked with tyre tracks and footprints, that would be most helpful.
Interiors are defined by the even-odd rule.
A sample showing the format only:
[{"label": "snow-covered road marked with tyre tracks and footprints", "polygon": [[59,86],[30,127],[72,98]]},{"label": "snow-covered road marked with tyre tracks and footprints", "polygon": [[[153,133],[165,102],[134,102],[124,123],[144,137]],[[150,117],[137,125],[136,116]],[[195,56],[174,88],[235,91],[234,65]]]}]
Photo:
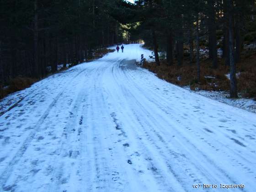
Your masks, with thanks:
[{"label": "snow-covered road marked with tyre tracks and footprints", "polygon": [[256,114],[134,66],[151,53],[138,44],[124,51],[37,82],[0,117],[0,191],[255,192]]}]

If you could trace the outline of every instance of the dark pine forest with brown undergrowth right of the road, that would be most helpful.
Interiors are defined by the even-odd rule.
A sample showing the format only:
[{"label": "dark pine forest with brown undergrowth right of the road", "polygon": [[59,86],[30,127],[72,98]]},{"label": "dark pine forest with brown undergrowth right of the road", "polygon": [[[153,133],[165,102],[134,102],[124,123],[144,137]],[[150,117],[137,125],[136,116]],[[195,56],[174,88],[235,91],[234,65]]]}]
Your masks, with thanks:
[{"label": "dark pine forest with brown undergrowth right of the road", "polygon": [[136,15],[122,22],[133,23],[131,37],[152,48],[155,64],[145,67],[160,78],[192,89],[229,90],[231,98],[239,92],[256,97],[255,0],[137,0],[123,10]]}]

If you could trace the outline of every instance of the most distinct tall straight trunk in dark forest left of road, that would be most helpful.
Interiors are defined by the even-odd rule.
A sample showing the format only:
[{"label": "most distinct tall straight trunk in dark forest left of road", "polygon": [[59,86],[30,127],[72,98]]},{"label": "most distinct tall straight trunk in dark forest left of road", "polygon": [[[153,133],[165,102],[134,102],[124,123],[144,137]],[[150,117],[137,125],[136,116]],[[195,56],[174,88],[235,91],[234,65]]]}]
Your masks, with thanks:
[{"label": "most distinct tall straight trunk in dark forest left of road", "polygon": [[38,66],[38,11],[37,11],[37,0],[34,0],[34,70],[33,76],[39,76],[39,66]]}]

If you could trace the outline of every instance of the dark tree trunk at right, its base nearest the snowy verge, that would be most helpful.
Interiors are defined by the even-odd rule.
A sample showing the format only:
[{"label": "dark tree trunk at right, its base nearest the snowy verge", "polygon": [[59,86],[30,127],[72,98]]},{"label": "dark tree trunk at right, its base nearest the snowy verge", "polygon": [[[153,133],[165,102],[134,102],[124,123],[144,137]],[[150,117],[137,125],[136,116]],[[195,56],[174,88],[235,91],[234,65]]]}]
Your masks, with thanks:
[{"label": "dark tree trunk at right, its base nearest the snowy verge", "polygon": [[234,48],[234,9],[233,0],[228,0],[229,10],[229,60],[230,60],[230,97],[237,98]]}]

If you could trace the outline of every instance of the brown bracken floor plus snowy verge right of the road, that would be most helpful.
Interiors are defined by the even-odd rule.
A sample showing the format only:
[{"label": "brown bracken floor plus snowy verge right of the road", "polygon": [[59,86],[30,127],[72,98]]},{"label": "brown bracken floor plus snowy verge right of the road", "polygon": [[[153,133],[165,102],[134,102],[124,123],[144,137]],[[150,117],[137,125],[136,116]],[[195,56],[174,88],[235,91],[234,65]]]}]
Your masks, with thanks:
[{"label": "brown bracken floor plus snowy verge right of the road", "polygon": [[234,107],[239,107],[250,112],[256,112],[256,55],[255,50],[242,55],[241,63],[237,64],[238,99],[229,98],[229,68],[224,65],[224,59],[219,59],[219,68],[212,69],[211,61],[201,61],[202,80],[198,84],[197,67],[190,65],[185,57],[181,67],[168,66],[166,60],[161,60],[160,66],[156,66],[152,59],[146,62],[145,69],[155,73],[160,79],[179,85],[211,99],[224,102]]}]

